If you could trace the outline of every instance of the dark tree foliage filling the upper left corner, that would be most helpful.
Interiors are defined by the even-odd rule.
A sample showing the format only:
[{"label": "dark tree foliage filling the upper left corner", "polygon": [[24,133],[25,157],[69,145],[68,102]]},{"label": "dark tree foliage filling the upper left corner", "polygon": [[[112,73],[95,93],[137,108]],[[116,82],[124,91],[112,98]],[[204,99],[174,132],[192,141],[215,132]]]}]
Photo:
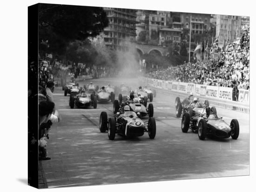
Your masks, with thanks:
[{"label": "dark tree foliage filling the upper left corner", "polygon": [[106,26],[101,7],[39,4],[40,51],[64,54],[70,42],[96,37]]}]

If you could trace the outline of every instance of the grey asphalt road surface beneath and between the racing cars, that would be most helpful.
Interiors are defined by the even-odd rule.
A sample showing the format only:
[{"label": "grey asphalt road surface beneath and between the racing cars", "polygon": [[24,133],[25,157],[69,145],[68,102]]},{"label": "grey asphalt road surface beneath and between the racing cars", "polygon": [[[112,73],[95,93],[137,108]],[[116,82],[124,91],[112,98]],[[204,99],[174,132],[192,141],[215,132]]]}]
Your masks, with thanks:
[{"label": "grey asphalt road surface beneath and between the racing cars", "polygon": [[[108,78],[79,86],[90,81],[101,86],[126,82],[133,89],[140,85],[136,79]],[[113,116],[111,102],[98,102],[97,109],[70,109],[68,101],[69,96],[56,87],[54,102],[62,121],[52,126],[47,140],[52,159],[42,161],[49,188],[249,175],[249,114],[216,108],[228,123],[238,120],[240,135],[237,140],[201,141],[191,130],[182,133],[175,96],[157,94],[152,102],[155,139],[145,133],[133,139],[116,135],[110,141],[108,133],[99,130],[99,117],[101,111]]]}]

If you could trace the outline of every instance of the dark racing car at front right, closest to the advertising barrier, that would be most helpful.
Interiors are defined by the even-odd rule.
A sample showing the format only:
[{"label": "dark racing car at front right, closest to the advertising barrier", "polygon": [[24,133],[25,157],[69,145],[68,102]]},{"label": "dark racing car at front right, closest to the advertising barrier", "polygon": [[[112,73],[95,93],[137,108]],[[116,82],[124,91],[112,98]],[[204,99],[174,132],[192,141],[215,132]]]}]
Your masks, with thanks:
[{"label": "dark racing car at front right, closest to the advertising barrier", "polygon": [[[209,116],[206,116],[206,110],[210,111]],[[202,113],[195,116],[190,116],[189,113],[184,113],[182,116],[182,132],[187,133],[191,129],[194,133],[198,133],[200,140],[204,140],[206,136],[215,136],[218,138],[237,139],[239,136],[239,123],[236,119],[232,119],[230,125],[219,118],[216,113],[216,108],[205,106]]]}]

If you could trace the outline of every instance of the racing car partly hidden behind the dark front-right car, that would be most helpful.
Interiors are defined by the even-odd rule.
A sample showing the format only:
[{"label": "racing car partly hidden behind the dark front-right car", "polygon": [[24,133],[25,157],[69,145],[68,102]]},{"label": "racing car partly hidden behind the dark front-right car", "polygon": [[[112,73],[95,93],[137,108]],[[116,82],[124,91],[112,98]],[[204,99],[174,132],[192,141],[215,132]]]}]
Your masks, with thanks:
[{"label": "racing car partly hidden behind the dark front-right car", "polygon": [[[176,99],[175,99],[176,117],[181,117],[182,114],[184,114],[185,112],[188,112],[189,115],[192,116],[193,110],[196,111],[197,108],[203,108],[204,106],[209,106],[209,101],[205,100],[203,104],[202,104],[202,102],[200,102],[201,104],[197,104],[197,108],[193,109],[193,107],[190,105],[191,101],[193,101],[193,99],[191,98],[189,100],[187,97],[181,102],[180,97],[176,97]],[[202,110],[202,109],[198,109],[198,110]]]}]

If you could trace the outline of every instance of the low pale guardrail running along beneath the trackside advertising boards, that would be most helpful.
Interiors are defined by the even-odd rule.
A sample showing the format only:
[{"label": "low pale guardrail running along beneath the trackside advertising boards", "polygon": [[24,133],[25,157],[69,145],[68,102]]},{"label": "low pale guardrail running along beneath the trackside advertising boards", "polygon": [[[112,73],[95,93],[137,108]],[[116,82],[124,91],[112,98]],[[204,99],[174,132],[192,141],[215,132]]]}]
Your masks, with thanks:
[{"label": "low pale guardrail running along beneath the trackside advertising boards", "polygon": [[[188,94],[185,94],[185,93],[180,93],[180,92],[176,92],[176,91],[172,91],[172,90],[162,90],[162,89],[159,89],[159,88],[155,88],[153,86],[149,86],[149,87],[151,87],[152,89],[157,90],[157,93],[162,93],[164,95],[172,94],[172,96],[180,96],[181,99],[188,96]],[[250,106],[249,106],[249,104],[246,104],[246,103],[240,103],[240,102],[235,102],[235,101],[220,101],[218,99],[208,98],[208,97],[205,97],[205,96],[200,96],[200,100],[202,102],[204,102],[205,100],[208,100],[210,105],[220,107],[220,108],[223,108],[223,109],[236,110],[236,111],[240,111],[240,112],[243,112],[243,113],[249,113],[250,112]]]}]

